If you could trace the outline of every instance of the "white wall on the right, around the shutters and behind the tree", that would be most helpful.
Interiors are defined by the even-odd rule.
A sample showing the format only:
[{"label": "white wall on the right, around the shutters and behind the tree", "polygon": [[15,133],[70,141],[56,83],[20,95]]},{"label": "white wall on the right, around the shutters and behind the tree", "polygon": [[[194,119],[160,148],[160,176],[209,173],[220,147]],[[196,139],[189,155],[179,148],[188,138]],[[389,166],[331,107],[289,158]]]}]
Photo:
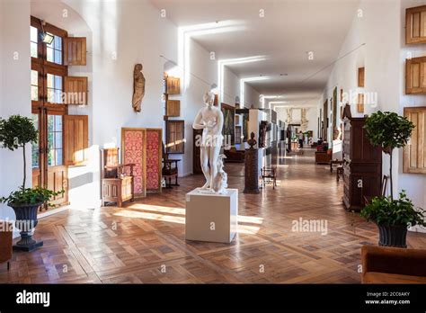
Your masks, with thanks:
[{"label": "white wall on the right, around the shutters and behind the tree", "polygon": [[[372,95],[370,99],[373,100],[377,96],[377,101],[365,105],[365,114],[378,110],[403,114],[404,106],[424,105],[426,96],[404,94],[404,62],[407,52],[411,51],[413,57],[426,55],[424,45],[404,45],[405,8],[423,4],[424,1],[416,0],[361,1],[359,8],[363,16],[355,14],[340,57],[356,50],[334,65],[320,106],[322,107],[325,98],[332,96],[335,85],[338,85],[338,90],[343,88],[347,93],[356,94],[359,91],[358,67],[365,67],[365,87],[360,91]],[[357,49],[363,43],[365,45]],[[330,110],[329,105],[329,114]],[[356,112],[355,104],[351,105],[351,112],[352,116],[363,115]],[[426,178],[422,174],[403,174],[403,149],[395,151],[393,166],[394,192],[404,189],[415,206],[426,208]],[[384,155],[383,173],[388,172],[389,157]]]}]

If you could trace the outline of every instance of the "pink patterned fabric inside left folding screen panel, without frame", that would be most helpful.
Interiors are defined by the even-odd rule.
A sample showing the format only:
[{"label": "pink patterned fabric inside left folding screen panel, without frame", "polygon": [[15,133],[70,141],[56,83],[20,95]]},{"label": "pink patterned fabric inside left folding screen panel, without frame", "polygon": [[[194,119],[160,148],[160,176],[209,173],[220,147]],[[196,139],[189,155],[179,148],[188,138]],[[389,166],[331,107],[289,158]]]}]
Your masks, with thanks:
[{"label": "pink patterned fabric inside left folding screen panel, without frame", "polygon": [[144,150],[145,130],[123,130],[123,162],[133,163],[135,194],[145,195]]}]

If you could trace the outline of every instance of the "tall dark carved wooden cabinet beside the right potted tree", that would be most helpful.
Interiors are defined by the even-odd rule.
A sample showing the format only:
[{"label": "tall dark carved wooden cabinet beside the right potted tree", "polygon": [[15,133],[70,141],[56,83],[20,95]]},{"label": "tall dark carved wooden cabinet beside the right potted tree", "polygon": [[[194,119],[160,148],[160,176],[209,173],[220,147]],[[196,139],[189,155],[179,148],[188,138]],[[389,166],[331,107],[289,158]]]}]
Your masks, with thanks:
[{"label": "tall dark carved wooden cabinet beside the right potted tree", "polygon": [[370,144],[363,128],[365,120],[344,120],[342,200],[346,210],[361,210],[364,199],[381,192],[382,151]]}]

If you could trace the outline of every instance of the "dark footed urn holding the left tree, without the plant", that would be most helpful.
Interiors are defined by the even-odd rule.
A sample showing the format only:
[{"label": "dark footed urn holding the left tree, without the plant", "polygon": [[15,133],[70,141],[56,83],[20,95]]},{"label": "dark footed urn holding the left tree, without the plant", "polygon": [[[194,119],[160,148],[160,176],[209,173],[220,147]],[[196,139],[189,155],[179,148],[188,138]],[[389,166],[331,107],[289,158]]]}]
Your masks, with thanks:
[{"label": "dark footed urn holding the left tree, without the plant", "polygon": [[9,204],[16,215],[15,227],[21,230],[21,240],[18,241],[16,245],[13,245],[14,250],[30,252],[39,246],[43,246],[42,241],[32,239],[32,231],[39,223],[37,211],[40,205],[41,203],[19,206]]}]

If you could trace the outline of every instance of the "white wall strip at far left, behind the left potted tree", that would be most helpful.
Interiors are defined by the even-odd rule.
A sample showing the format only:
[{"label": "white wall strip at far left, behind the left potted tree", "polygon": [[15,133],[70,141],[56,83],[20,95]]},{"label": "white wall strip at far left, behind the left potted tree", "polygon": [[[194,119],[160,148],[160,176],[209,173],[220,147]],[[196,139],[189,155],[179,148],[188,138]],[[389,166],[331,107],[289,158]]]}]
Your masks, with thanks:
[{"label": "white wall strip at far left, behind the left potted tree", "polygon": [[[31,117],[30,2],[0,1],[1,116],[13,114]],[[31,186],[31,145],[27,148],[27,183]],[[8,195],[22,185],[22,148],[0,150],[1,195]],[[14,219],[13,210],[5,205],[0,218]]]}]

